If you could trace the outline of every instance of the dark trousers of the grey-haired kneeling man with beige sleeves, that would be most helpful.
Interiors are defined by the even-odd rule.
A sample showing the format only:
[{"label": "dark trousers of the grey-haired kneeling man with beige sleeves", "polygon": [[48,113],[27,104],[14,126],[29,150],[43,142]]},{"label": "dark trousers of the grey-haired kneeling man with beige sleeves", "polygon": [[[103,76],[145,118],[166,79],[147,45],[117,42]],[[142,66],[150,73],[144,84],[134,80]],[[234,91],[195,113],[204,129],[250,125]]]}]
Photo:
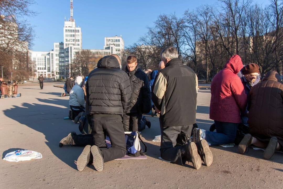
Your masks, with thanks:
[{"label": "dark trousers of the grey-haired kneeling man with beige sleeves", "polygon": [[[160,120],[159,120],[160,121]],[[160,124],[161,129],[161,143],[160,143],[160,155],[164,160],[175,162],[179,165],[184,165],[187,158],[182,155],[181,150],[183,146],[176,146],[176,139],[179,133],[183,132],[188,136],[191,135],[193,124],[184,126],[172,126],[163,127]]]}]

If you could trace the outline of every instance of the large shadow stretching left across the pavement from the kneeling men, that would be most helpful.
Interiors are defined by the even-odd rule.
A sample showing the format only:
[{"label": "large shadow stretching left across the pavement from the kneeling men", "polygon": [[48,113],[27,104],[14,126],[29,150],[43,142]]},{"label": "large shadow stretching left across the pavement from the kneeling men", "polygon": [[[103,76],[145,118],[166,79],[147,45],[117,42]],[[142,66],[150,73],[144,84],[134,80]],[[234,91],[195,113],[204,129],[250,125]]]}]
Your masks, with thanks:
[{"label": "large shadow stretching left across the pavement from the kneeling men", "polygon": [[[49,103],[49,100],[39,99],[40,101]],[[68,106],[67,99],[54,99],[54,105]],[[54,101],[52,100],[52,101]],[[28,126],[38,132],[45,135],[46,145],[50,148],[51,152],[59,158],[62,162],[66,163],[70,167],[76,169],[74,160],[78,159],[78,156],[82,152],[82,147],[72,148],[59,148],[59,141],[65,137],[70,131],[75,130],[78,132],[78,124],[69,122],[69,120],[63,120],[68,114],[67,108],[61,108],[53,105],[42,105],[37,103],[22,103],[23,107],[14,106],[11,109],[4,110],[5,116],[18,121],[21,124]],[[4,153],[11,152],[14,149],[6,150]],[[43,157],[45,153],[40,152]],[[46,157],[48,158],[48,157]]]}]

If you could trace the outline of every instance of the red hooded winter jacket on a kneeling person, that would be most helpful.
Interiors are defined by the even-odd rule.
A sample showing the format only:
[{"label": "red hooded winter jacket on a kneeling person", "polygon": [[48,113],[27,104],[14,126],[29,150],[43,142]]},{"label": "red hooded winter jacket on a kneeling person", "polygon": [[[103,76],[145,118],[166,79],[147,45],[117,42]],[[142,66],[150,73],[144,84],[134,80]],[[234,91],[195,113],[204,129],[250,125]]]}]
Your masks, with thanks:
[{"label": "red hooded winter jacket on a kneeling person", "polygon": [[209,118],[220,122],[241,123],[247,95],[237,73],[243,68],[239,55],[232,56],[211,82]]}]

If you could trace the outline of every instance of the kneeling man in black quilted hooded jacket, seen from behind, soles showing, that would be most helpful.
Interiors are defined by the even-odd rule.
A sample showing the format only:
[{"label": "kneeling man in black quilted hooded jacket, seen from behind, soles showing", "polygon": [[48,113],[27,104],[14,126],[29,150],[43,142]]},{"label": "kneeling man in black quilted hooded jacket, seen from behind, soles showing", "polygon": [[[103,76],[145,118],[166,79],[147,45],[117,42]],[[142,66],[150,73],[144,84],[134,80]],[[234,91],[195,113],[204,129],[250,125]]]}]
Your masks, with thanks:
[{"label": "kneeling man in black quilted hooded jacket, seen from behind, soles showing", "polygon": [[[121,158],[126,154],[126,141],[122,116],[130,107],[131,88],[127,74],[120,69],[114,56],[105,56],[97,68],[89,73],[86,83],[85,113],[92,126],[93,146],[87,145],[77,160],[82,171],[93,159],[97,171],[104,162]],[[108,133],[112,147],[106,148]]]}]

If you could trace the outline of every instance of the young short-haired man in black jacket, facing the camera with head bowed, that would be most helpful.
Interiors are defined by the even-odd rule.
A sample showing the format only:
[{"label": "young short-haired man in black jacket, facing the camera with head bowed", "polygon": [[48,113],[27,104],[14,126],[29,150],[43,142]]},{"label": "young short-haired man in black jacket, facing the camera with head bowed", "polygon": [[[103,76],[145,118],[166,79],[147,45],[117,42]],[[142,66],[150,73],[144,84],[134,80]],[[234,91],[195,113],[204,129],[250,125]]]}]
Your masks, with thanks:
[{"label": "young short-haired man in black jacket, facing the camera with head bowed", "polygon": [[146,123],[150,127],[149,120],[141,122],[142,114],[148,113],[151,109],[151,93],[147,75],[138,67],[137,58],[128,56],[126,73],[130,78],[132,98],[127,114],[123,116],[124,131],[138,131],[142,128],[140,124]]}]

